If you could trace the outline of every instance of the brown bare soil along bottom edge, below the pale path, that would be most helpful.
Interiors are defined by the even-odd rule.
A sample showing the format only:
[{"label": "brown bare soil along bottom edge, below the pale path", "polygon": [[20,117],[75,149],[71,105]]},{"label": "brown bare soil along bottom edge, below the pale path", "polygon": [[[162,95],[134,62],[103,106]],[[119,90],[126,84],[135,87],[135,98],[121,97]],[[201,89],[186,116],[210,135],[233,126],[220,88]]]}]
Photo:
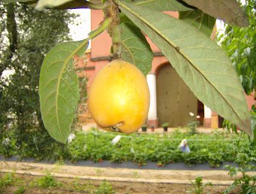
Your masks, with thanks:
[{"label": "brown bare soil along bottom edge, below the pale path", "polygon": [[[88,188],[85,188],[83,191],[76,191],[76,189],[72,189],[72,179],[68,178],[57,178],[58,181],[65,185],[70,185],[69,189],[65,188],[52,188],[52,189],[44,189],[44,188],[29,188],[29,183],[31,183],[33,180],[35,180],[38,177],[35,177],[33,175],[17,175],[20,179],[22,179],[23,184],[26,186],[26,191],[24,194],[63,194],[63,193],[72,193],[72,194],[78,194],[78,193],[93,193],[95,191],[95,188],[99,186],[100,181],[84,181],[79,180],[80,184],[88,184]],[[113,189],[116,191],[116,194],[187,194],[189,190],[193,190],[193,186],[190,184],[156,184],[156,183],[123,183],[123,182],[113,182],[109,181],[109,183],[112,184]],[[6,188],[4,193],[6,194],[13,194],[15,191],[19,188],[18,186],[9,186]],[[208,191],[209,193],[222,193],[227,186],[208,186],[205,191]],[[104,193],[102,193],[104,194]]]}]

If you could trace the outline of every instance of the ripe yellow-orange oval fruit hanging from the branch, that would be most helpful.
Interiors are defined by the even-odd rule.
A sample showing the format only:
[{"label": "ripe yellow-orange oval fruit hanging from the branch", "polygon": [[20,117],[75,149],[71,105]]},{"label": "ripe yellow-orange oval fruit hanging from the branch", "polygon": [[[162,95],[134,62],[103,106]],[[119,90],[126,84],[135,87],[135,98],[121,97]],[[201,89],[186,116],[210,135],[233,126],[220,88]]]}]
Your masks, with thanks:
[{"label": "ripe yellow-orange oval fruit hanging from the branch", "polygon": [[133,133],[145,123],[150,94],[136,66],[115,60],[99,71],[89,91],[88,107],[104,130]]}]

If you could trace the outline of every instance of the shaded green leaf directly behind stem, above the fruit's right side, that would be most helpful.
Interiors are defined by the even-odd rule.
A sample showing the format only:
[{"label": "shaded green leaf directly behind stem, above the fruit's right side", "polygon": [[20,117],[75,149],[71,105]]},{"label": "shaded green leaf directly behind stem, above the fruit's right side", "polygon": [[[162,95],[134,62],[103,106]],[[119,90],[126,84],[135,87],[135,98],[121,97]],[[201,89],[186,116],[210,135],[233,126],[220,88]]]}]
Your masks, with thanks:
[{"label": "shaded green leaf directly behind stem, above the fruit's right side", "polygon": [[153,52],[140,29],[124,14],[120,14],[122,57],[124,61],[137,66],[144,75],[151,70]]}]

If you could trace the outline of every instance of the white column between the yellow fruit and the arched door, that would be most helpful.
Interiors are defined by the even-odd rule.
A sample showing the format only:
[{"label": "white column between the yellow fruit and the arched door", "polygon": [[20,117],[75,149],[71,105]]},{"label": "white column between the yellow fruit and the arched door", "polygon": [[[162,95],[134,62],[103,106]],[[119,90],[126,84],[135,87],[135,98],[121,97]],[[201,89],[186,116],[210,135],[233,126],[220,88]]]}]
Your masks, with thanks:
[{"label": "white column between the yellow fruit and the arched door", "polygon": [[157,109],[156,109],[156,75],[154,73],[148,73],[147,82],[150,93],[150,105],[148,111],[148,120],[157,119]]}]

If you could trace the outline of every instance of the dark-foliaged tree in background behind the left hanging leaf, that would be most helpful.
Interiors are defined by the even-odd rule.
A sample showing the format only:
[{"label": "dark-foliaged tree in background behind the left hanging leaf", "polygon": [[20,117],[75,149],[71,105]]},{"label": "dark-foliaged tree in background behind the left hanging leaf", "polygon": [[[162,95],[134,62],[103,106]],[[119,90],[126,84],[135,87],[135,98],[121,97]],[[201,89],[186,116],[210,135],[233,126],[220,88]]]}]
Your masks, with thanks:
[{"label": "dark-foliaged tree in background behind the left hanging leaf", "polygon": [[[47,149],[54,141],[40,113],[41,64],[51,47],[68,40],[68,23],[76,15],[65,10],[39,12],[19,3],[1,3],[0,13],[0,137],[6,138],[1,146],[8,151],[12,129],[12,143],[36,157],[36,150]],[[6,72],[10,75],[4,76]]]}]

